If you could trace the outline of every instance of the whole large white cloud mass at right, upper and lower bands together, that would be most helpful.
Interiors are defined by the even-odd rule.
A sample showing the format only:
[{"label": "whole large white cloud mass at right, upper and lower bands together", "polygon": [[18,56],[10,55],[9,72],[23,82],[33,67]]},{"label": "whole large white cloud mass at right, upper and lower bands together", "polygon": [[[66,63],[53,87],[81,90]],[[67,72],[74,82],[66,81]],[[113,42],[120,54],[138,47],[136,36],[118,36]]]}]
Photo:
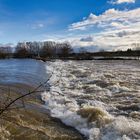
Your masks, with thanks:
[{"label": "whole large white cloud mass at right, upper and lower bands together", "polygon": [[[85,30],[85,35],[72,39],[71,43],[75,47],[92,47],[96,50],[133,48],[133,44],[140,43],[139,13],[140,8],[129,11],[109,9],[99,16],[90,14],[88,18],[69,27],[72,32],[81,28]],[[89,35],[89,31],[96,28],[101,31]]]}]

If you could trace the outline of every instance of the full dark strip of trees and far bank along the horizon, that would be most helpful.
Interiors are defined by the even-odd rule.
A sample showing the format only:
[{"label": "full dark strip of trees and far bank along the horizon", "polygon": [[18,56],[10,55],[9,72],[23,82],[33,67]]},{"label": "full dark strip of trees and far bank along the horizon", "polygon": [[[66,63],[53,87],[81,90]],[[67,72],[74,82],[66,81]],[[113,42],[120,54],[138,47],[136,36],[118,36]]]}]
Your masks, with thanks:
[{"label": "full dark strip of trees and far bank along the horizon", "polygon": [[0,47],[0,58],[33,58],[33,59],[72,59],[72,60],[92,60],[92,59],[119,59],[120,57],[140,57],[140,49],[127,51],[104,51],[86,52],[79,49],[74,52],[68,42],[56,43],[45,42],[19,42],[16,47]]}]

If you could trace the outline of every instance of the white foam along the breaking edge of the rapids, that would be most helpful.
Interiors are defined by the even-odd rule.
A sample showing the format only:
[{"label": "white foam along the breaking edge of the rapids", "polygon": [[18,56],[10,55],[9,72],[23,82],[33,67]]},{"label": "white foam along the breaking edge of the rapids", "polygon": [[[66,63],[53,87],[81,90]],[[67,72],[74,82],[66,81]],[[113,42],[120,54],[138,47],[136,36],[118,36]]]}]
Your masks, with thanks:
[{"label": "white foam along the breaking edge of the rapids", "polygon": [[[91,77],[79,77],[77,79],[76,75],[70,73],[74,68],[80,73],[86,72],[85,67],[78,66],[73,61],[56,61],[47,64],[47,73],[51,74],[53,72],[53,75],[49,81],[51,85],[50,91],[42,93],[42,100],[45,101],[46,108],[50,110],[51,115],[61,119],[65,124],[75,127],[87,136],[89,140],[129,140],[133,137],[140,138],[140,122],[135,122],[125,117],[114,117],[106,111],[113,108],[112,106],[94,98],[92,99],[92,96],[98,98],[105,95],[111,96],[113,93],[127,92],[131,91],[131,89],[120,86],[118,83],[106,88],[101,88],[96,84],[89,85],[92,83],[90,78],[103,80],[105,78],[103,73],[100,71],[98,74],[91,74]],[[113,74],[108,73],[108,75],[113,77]],[[108,82],[106,79],[104,80]],[[82,87],[86,83],[89,83],[88,86],[95,90],[94,94],[84,93]],[[90,98],[88,99],[87,97]],[[82,100],[81,104],[78,103],[79,99],[80,101]],[[83,106],[100,108],[101,111],[108,114],[107,117],[112,121],[101,127],[97,126],[96,122],[89,122],[88,118],[82,118],[81,115],[77,114],[77,111]]]}]

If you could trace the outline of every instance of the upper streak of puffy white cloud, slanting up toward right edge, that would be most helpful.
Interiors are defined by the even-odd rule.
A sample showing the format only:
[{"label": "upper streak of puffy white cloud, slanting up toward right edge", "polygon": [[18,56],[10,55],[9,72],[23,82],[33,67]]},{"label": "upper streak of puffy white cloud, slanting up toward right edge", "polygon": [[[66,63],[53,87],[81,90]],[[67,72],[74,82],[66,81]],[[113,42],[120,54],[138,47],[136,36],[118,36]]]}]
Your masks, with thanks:
[{"label": "upper streak of puffy white cloud, slanting up toward right edge", "polygon": [[140,8],[130,11],[118,11],[109,9],[103,14],[96,16],[90,14],[85,20],[73,23],[69,26],[69,30],[86,30],[90,27],[102,28],[125,28],[130,24],[140,22]]}]

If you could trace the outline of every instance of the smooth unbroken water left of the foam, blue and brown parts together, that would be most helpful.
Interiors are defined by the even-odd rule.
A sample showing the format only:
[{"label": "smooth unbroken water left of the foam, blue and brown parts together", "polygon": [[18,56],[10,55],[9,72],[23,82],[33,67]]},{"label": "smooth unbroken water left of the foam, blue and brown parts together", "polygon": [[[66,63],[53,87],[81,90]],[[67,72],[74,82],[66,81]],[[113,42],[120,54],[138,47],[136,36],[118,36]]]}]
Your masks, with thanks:
[{"label": "smooth unbroken water left of the foam, blue and brown parts together", "polygon": [[[0,60],[0,107],[46,81],[46,65],[27,59]],[[84,139],[77,130],[51,117],[43,103],[37,93],[26,97],[24,106],[23,101],[11,106],[0,116],[0,140]]]}]

